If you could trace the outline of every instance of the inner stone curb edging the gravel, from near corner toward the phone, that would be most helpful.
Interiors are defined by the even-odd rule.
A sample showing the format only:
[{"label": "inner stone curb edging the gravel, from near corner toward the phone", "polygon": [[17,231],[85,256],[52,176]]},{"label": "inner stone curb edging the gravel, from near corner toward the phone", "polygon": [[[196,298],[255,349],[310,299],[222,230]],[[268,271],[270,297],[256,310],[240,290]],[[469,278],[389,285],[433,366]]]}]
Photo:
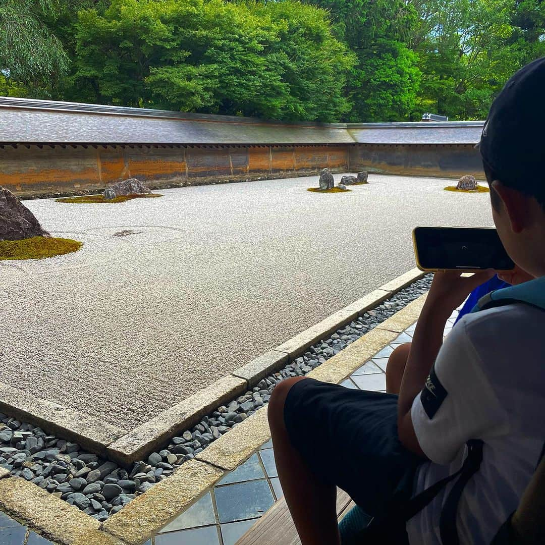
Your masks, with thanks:
[{"label": "inner stone curb edging the gravel, from near corner toward the phone", "polygon": [[[106,449],[106,456],[124,467],[144,459],[150,452],[183,431],[197,424],[203,416],[251,389],[259,380],[280,370],[304,354],[308,347],[349,324],[370,308],[399,292],[426,273],[411,269],[361,299],[331,314],[321,322],[302,331],[269,352],[258,356],[230,375],[217,380],[184,401],[167,409],[149,422],[114,440]],[[346,350],[346,349],[345,349]],[[323,365],[323,364],[322,364]],[[321,366],[320,366],[321,367]]]}]

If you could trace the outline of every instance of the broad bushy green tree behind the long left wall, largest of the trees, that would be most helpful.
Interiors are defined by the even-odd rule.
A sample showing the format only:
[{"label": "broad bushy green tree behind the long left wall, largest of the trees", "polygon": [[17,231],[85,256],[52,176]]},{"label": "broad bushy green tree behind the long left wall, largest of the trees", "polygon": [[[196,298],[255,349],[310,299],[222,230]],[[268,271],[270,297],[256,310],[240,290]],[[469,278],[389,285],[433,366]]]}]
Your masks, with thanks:
[{"label": "broad bushy green tree behind the long left wall, largest of the trees", "polygon": [[81,10],[72,99],[276,119],[338,119],[353,55],[323,10],[284,2],[113,0]]}]

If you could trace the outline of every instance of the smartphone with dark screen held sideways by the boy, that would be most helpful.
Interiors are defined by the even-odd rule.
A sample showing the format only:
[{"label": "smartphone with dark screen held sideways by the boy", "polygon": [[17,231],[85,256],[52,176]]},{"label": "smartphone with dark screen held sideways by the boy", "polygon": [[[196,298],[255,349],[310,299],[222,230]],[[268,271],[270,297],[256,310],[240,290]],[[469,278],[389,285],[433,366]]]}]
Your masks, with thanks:
[{"label": "smartphone with dark screen held sideways by the boy", "polygon": [[514,268],[494,228],[416,227],[413,244],[416,265],[423,271]]}]

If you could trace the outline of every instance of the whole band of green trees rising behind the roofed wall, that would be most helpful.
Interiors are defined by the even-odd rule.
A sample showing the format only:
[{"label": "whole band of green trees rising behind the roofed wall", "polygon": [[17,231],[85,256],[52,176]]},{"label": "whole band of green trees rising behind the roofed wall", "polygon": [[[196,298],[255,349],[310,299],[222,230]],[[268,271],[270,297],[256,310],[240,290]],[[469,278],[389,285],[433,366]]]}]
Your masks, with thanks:
[{"label": "whole band of green trees rising behind the roofed wall", "polygon": [[282,120],[486,116],[545,0],[2,0],[0,94]]}]

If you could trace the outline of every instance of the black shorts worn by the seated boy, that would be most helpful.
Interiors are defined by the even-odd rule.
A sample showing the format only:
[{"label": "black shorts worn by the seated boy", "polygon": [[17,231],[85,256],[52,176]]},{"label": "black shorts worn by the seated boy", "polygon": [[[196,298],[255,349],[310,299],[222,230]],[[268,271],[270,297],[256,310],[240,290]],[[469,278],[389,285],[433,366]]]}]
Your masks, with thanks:
[{"label": "black shorts worn by the seated boy", "polygon": [[320,479],[375,517],[408,499],[422,462],[399,443],[397,396],[314,379],[296,382],[284,405],[292,445]]}]

